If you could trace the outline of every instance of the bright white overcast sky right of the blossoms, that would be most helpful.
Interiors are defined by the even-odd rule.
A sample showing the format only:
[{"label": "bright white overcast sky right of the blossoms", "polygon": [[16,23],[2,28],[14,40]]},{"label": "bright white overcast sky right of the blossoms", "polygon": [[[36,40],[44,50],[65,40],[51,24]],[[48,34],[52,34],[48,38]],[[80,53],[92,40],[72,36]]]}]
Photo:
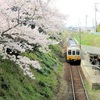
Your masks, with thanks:
[{"label": "bright white overcast sky right of the blossoms", "polygon": [[67,14],[67,26],[86,27],[94,26],[95,22],[95,3],[96,20],[100,22],[100,0],[55,0],[54,5],[60,12]]}]

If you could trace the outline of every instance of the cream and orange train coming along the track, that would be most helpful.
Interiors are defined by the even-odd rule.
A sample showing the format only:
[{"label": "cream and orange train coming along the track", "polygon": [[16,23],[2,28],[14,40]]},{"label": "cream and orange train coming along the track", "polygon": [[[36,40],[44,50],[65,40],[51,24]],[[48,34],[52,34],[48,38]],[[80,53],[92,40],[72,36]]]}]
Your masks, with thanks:
[{"label": "cream and orange train coming along the track", "polygon": [[81,50],[73,37],[68,37],[66,41],[66,61],[77,64],[81,62]]}]

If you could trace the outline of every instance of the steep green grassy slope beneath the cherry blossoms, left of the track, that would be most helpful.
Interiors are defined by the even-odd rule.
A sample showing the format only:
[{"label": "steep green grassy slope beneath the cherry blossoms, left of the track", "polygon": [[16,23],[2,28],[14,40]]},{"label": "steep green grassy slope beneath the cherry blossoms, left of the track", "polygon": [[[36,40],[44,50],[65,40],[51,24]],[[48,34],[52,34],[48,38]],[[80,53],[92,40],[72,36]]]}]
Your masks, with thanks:
[{"label": "steep green grassy slope beneath the cherry blossoms, left of the track", "polygon": [[0,100],[51,100],[60,84],[62,62],[60,45],[50,46],[51,52],[25,52],[24,56],[38,60],[42,70],[31,68],[36,79],[23,74],[15,62],[0,56]]}]

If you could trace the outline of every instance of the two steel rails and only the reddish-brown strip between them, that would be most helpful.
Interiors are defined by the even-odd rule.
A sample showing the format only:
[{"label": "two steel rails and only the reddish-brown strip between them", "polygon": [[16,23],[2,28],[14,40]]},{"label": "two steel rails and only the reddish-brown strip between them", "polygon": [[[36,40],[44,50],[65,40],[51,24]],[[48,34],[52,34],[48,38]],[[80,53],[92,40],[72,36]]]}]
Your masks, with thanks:
[{"label": "two steel rails and only the reddish-brown strip between them", "polygon": [[[79,66],[71,66],[71,81],[72,81],[72,94],[73,100],[89,100]],[[80,91],[80,92],[79,92]]]}]

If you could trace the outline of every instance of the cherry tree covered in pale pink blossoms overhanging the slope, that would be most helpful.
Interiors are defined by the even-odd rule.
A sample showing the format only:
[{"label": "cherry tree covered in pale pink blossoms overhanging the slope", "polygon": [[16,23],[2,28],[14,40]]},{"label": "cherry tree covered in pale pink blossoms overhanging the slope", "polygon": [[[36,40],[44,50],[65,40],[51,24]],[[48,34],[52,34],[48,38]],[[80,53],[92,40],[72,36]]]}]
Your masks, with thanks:
[{"label": "cherry tree covered in pale pink blossoms overhanging the slope", "polygon": [[16,61],[24,74],[32,79],[35,77],[30,72],[29,65],[41,69],[39,62],[21,57],[20,53],[26,50],[34,52],[37,47],[40,52],[49,52],[48,45],[59,42],[51,40],[50,36],[65,28],[64,20],[67,16],[50,8],[50,2],[51,0],[0,1],[0,54],[3,59]]}]

